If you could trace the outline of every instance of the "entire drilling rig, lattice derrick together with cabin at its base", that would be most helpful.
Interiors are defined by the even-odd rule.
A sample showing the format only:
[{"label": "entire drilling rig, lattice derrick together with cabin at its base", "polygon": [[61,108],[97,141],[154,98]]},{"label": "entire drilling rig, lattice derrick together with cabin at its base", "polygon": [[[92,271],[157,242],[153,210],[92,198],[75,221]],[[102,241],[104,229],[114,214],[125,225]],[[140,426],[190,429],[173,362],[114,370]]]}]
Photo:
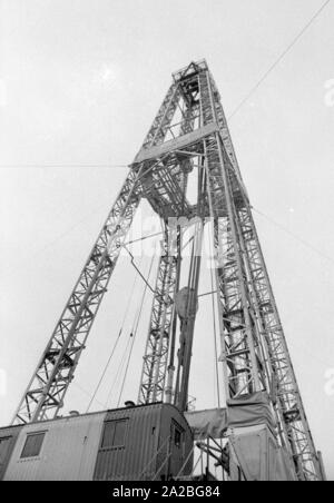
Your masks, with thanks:
[{"label": "entire drilling rig, lattice derrick together with cabin at its base", "polygon": [[[205,60],[191,62],[173,75],[167,95],[129,168],[19,404],[13,425],[0,432],[0,460],[8,464],[3,469],[4,479],[20,477],[20,470],[28,470],[29,462],[36,467],[32,477],[41,473],[38,470],[43,469],[37,469],[37,458],[42,455],[42,444],[47,452],[48,432],[63,422],[63,431],[69,430],[63,433],[63,444],[59,440],[59,448],[65,448],[69,432],[75,435],[78,425],[78,463],[88,463],[90,456],[87,454],[86,460],[82,442],[94,443],[94,447],[87,444],[85,448],[98,453],[97,458],[104,450],[109,452],[104,453],[101,465],[89,457],[90,467],[86,472],[89,480],[100,479],[97,475],[100,473],[107,480],[194,479],[198,476],[196,463],[193,469],[189,463],[199,452],[215,463],[215,469],[222,469],[220,479],[225,481],[323,481],[321,454],[303,406],[249,198],[220,96]],[[188,196],[189,180],[194,177],[195,203]],[[143,199],[161,220],[163,240],[138,405],[126,413],[120,410],[57,418]],[[190,364],[204,233],[208,227],[214,256],[214,288],[209,295],[215,300],[223,375],[219,385],[226,404],[223,408],[190,412]],[[185,243],[187,233],[191,238]],[[183,256],[185,246],[190,249],[189,260]],[[157,411],[161,420],[148,420]],[[145,455],[143,445],[132,442],[131,435],[122,436],[121,445],[114,443],[126,428],[137,428],[130,426],[130,416],[136,414],[147,417],[140,426],[147,442]],[[114,415],[129,422],[118,426]],[[106,421],[111,421],[111,433],[102,432]],[[145,430],[149,421],[154,421],[150,433]],[[161,436],[157,432],[163,423],[167,426]],[[91,433],[94,438],[87,433],[90,424],[95,425],[91,432],[96,428]],[[150,443],[149,435],[155,442]],[[136,473],[130,461],[118,460],[117,473],[110,467],[121,456],[119,448],[124,455],[129,450],[136,457]],[[26,463],[19,465],[20,457]],[[71,464],[76,465],[73,460]],[[214,476],[210,467],[208,461],[208,479]],[[72,476],[81,475],[72,472]]]}]

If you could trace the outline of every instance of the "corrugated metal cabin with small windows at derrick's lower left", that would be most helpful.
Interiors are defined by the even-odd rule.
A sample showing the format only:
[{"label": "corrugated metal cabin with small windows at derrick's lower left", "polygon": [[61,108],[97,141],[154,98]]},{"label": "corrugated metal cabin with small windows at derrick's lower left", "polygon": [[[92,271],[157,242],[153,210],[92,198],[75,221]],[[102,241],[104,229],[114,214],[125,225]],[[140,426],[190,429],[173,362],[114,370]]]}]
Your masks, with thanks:
[{"label": "corrugated metal cabin with small windows at derrick's lower left", "polygon": [[193,445],[168,404],[61,417],[0,428],[0,480],[167,480],[191,472]]}]

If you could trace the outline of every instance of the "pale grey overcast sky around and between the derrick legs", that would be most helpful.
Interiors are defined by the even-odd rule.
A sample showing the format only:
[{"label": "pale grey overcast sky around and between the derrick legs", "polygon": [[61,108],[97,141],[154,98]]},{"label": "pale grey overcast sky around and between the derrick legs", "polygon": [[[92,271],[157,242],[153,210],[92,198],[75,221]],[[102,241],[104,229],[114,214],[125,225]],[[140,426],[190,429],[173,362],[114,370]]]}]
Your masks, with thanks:
[{"label": "pale grey overcast sky around and between the derrick legs", "polygon": [[[107,166],[131,162],[170,73],[206,58],[229,116],[322,3],[0,0],[0,377],[7,375],[7,386],[3,379],[0,385],[0,424],[11,420],[127,172]],[[286,229],[255,213],[312,432],[331,480],[333,21],[330,2],[230,120],[254,207]],[[146,206],[143,216],[149,216]],[[146,234],[155,230],[155,220],[144,221]],[[150,258],[140,266],[147,272]],[[206,276],[202,292],[209,289]],[[86,411],[122,324],[134,278],[128,258],[121,258],[63,413]],[[112,383],[141,293],[137,280],[118,354],[92,410],[117,405],[121,378]],[[137,398],[150,300],[147,295],[121,402]],[[204,299],[190,389],[198,408],[217,402],[209,314],[210,300]]]}]

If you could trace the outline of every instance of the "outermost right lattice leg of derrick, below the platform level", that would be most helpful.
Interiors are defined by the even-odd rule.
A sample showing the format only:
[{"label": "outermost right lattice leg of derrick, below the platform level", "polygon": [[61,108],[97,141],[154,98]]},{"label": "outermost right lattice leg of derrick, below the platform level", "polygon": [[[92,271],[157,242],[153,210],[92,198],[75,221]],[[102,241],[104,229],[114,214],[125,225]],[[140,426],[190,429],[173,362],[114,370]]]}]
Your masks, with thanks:
[{"label": "outermost right lattice leg of derrick, below the platform level", "polygon": [[271,367],[274,406],[279,425],[289,441],[291,452],[301,480],[318,480],[321,470],[310,431],[294,367],[289,358],[281,318],[249,205],[239,209],[240,241],[247,260],[254,306],[267,364]]}]

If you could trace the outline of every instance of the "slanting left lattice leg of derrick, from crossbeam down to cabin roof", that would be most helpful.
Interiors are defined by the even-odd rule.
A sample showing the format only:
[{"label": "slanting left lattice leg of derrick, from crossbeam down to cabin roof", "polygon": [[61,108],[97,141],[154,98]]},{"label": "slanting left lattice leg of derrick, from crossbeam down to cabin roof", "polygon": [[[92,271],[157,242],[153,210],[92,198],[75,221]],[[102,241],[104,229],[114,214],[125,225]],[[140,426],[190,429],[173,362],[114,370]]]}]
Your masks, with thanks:
[{"label": "slanting left lattice leg of derrick, from crossbeam down to cabin roof", "polygon": [[138,207],[141,171],[130,171],[119,193],[17,410],[16,424],[53,418],[62,407]]}]

